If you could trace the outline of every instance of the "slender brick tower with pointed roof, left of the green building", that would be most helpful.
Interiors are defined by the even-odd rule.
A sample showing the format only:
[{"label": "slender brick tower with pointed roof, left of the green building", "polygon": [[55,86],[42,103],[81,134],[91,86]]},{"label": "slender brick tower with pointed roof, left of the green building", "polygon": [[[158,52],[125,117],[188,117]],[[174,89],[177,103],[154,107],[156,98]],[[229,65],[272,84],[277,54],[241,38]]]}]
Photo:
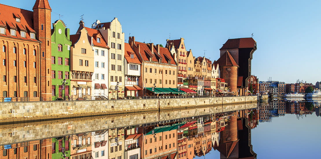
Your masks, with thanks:
[{"label": "slender brick tower with pointed roof, left of the green building", "polygon": [[51,8],[48,0],[36,0],[33,6],[33,26],[36,38],[41,41],[40,52],[40,97],[49,100],[51,97]]}]

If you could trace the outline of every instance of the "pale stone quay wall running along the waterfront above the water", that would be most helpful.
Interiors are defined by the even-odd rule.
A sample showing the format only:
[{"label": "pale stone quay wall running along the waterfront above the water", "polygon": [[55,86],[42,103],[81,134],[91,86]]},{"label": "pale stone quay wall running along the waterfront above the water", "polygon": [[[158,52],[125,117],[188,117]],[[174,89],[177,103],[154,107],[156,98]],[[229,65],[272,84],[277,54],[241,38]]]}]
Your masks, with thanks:
[{"label": "pale stone quay wall running along the waterfront above the water", "polygon": [[125,111],[167,110],[180,107],[256,102],[257,96],[211,98],[164,98],[136,100],[2,102],[0,119],[53,118]]}]

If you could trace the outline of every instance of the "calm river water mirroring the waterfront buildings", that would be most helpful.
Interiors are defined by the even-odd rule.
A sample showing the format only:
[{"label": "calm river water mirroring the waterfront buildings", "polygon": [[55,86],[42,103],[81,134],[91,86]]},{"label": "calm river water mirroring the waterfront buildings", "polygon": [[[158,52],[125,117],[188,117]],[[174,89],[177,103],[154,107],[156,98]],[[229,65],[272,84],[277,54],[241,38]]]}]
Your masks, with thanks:
[{"label": "calm river water mirroring the waterfront buildings", "polygon": [[1,125],[0,159],[321,158],[320,108],[274,99]]}]

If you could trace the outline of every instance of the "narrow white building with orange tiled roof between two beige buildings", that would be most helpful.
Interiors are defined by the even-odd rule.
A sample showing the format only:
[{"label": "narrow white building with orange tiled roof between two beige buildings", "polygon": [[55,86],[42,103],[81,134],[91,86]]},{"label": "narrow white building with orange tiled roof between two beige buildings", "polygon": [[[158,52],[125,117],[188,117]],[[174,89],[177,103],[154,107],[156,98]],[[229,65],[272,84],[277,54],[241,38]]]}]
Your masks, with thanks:
[{"label": "narrow white building with orange tiled roof between two beige buildings", "polygon": [[[108,98],[108,45],[100,30],[87,28],[84,23],[79,23],[78,31],[85,28],[88,32],[89,42],[94,50],[94,73],[92,76],[91,92],[92,99]],[[77,32],[79,34],[79,32]],[[106,85],[107,84],[107,85]]]}]

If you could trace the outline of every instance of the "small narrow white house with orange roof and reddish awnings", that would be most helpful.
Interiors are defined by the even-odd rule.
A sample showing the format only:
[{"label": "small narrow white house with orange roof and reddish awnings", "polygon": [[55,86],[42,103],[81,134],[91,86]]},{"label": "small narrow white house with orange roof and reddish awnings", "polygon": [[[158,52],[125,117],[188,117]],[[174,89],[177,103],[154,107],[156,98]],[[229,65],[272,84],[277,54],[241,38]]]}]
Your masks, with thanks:
[{"label": "small narrow white house with orange roof and reddish awnings", "polygon": [[134,50],[125,43],[125,96],[138,96],[142,88],[138,86],[138,78],[141,75],[142,63],[139,61]]}]

